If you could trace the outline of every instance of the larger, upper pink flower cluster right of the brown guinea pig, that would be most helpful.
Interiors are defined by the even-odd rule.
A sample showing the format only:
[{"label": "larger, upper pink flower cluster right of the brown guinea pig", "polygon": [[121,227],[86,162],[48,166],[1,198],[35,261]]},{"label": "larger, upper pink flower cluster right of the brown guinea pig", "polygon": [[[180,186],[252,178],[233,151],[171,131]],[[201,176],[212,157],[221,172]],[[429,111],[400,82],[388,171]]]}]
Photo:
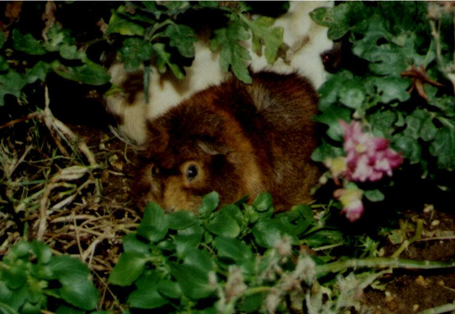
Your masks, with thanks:
[{"label": "larger, upper pink flower cluster right of the brown guinea pig", "polygon": [[340,120],[339,123],[344,129],[344,149],[347,153],[347,169],[343,175],[349,180],[377,181],[384,173],[391,176],[392,170],[403,163],[403,157],[389,148],[386,139],[364,133],[360,122],[348,124]]}]

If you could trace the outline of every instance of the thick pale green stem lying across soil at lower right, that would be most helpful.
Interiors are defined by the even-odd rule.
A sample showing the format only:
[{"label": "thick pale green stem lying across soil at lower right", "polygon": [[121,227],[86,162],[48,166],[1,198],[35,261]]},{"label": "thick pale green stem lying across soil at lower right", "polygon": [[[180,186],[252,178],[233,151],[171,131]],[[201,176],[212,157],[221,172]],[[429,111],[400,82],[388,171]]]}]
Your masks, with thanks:
[{"label": "thick pale green stem lying across soil at lower right", "polygon": [[337,261],[329,264],[316,266],[316,276],[320,277],[329,272],[338,272],[347,268],[370,267],[370,268],[407,268],[407,269],[435,269],[455,267],[455,261],[416,261],[408,259],[396,259],[390,257],[373,257],[366,259],[350,259]]}]

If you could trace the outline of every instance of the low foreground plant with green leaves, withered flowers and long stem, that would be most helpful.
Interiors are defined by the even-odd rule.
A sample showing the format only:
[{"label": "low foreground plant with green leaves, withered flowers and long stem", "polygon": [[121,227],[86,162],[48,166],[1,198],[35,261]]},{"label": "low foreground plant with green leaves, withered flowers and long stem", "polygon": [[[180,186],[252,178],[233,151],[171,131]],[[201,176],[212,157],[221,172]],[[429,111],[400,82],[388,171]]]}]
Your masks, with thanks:
[{"label": "low foreground plant with green leaves, withered flowers and long stem", "polygon": [[[327,211],[319,220],[307,205],[274,214],[269,193],[260,194],[252,205],[240,200],[215,211],[218,201],[215,192],[204,196],[199,215],[165,214],[156,203],[147,205],[137,233],[124,237],[124,252],[109,276],[112,284],[134,287],[126,299],[130,308],[167,313],[342,313],[358,308],[363,289],[391,272],[389,268],[455,265],[374,255],[334,261],[311,251],[339,241],[336,234],[347,238],[339,231],[330,233]],[[362,241],[364,252],[377,247]],[[347,272],[352,267],[356,270]],[[375,267],[385,270],[374,271]]]}]

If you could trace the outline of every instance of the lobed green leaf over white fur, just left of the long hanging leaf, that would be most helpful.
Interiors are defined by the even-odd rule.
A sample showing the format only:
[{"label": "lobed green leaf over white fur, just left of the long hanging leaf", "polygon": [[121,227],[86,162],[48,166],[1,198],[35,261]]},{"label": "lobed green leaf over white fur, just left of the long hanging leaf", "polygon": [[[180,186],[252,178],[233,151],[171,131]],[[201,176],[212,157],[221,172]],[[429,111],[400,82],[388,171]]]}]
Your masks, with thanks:
[{"label": "lobed green leaf over white fur, just left of the long hanging leaf", "polygon": [[197,42],[198,38],[191,27],[181,24],[170,24],[164,30],[164,35],[169,37],[169,45],[176,47],[182,56],[186,58],[194,57],[193,43]]}]

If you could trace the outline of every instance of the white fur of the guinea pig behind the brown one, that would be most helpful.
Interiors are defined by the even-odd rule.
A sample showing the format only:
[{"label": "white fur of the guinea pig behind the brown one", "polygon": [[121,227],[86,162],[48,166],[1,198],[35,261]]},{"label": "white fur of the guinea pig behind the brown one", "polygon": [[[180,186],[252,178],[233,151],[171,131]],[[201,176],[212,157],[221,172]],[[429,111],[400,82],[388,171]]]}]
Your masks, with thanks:
[{"label": "white fur of the guinea pig behind the brown one", "polygon": [[[284,28],[283,41],[290,47],[286,55],[290,60],[289,65],[279,58],[270,66],[264,55],[259,57],[252,51],[251,41],[245,43],[245,48],[252,56],[253,71],[297,71],[307,77],[316,89],[319,88],[327,75],[320,54],[332,48],[332,42],[327,38],[327,27],[314,23],[308,14],[321,6],[333,6],[333,1],[290,1],[289,11],[276,20],[274,26]],[[180,81],[172,75],[159,75],[158,70],[152,68],[149,104],[145,103],[143,92],[136,95],[132,104],[126,103],[121,96],[106,97],[108,110],[123,118],[123,124],[118,125],[121,133],[137,144],[143,144],[147,119],[163,114],[183,99],[208,86],[220,84],[231,75],[221,71],[219,53],[212,53],[208,42],[203,41],[195,43],[195,59],[191,67],[185,67],[185,71],[186,77]],[[120,86],[126,80],[127,73],[123,64],[113,65],[109,72],[113,84]]]}]

